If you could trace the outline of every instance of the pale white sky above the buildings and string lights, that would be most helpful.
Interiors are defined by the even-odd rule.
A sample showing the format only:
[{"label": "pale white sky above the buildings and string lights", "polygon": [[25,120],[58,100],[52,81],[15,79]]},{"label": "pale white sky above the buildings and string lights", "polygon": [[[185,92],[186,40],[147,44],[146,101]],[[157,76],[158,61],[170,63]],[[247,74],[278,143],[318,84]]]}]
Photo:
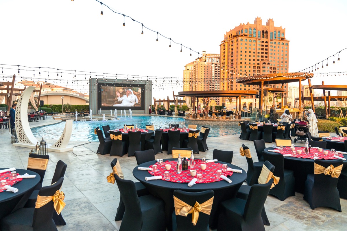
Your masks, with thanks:
[{"label": "pale white sky above the buildings and string lights", "polygon": [[[105,6],[101,15],[101,4],[95,0],[1,0],[0,68],[4,68],[4,73],[0,73],[0,81],[10,80],[6,75],[18,75],[17,70],[6,69],[16,66],[3,64],[117,73],[119,78],[148,75],[157,76],[161,82],[153,85],[153,97],[172,98],[172,91],[177,94],[183,90],[184,66],[198,57],[195,52],[190,56],[189,48],[200,54],[202,51],[218,54],[227,31],[240,23],[253,23],[256,17],[262,18],[263,25],[271,18],[275,26],[286,28],[286,38],[290,41],[289,72],[306,69],[347,47],[344,28],[347,1],[344,0],[273,1],[263,5],[253,0],[105,0],[103,3],[154,32],[143,28],[141,34],[141,24],[128,17],[124,21],[123,15]],[[156,32],[188,48],[183,47],[180,52],[181,46],[173,42],[169,47],[169,39],[160,35],[157,42]],[[340,53],[339,62],[337,58],[335,64],[332,61],[329,58],[329,66],[324,61],[324,69],[320,64],[319,71],[347,71],[347,49]],[[57,70],[48,71],[50,77],[46,72],[39,77],[35,71],[35,80],[45,78],[47,82],[88,92],[84,81],[88,75],[77,74],[74,79],[73,72],[60,74],[59,71],[58,80],[50,80],[56,79],[57,73],[52,72]],[[20,71],[17,80],[24,78],[33,79],[33,71]],[[317,75],[312,84],[321,84],[322,80],[325,84],[347,84],[347,75]]]}]

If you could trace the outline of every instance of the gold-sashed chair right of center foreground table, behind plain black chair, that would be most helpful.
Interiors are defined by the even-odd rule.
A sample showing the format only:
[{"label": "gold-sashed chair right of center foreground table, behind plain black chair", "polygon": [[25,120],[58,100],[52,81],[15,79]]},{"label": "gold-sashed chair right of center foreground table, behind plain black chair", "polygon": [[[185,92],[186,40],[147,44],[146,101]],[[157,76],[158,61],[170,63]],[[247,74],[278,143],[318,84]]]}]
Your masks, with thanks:
[{"label": "gold-sashed chair right of center foreground table, behind plain black chair", "polygon": [[[265,161],[260,175],[255,176],[257,178],[256,184],[268,183],[268,181],[271,179],[273,175],[274,170],[275,170],[275,166],[273,166],[269,161]],[[266,180],[264,181],[264,179]],[[236,197],[247,200],[250,190],[251,190],[251,186],[241,185],[241,187],[239,188],[236,194]],[[262,209],[261,217],[262,217],[264,225],[270,225],[270,221],[268,219],[268,216],[266,215],[265,207],[263,207]]]}]

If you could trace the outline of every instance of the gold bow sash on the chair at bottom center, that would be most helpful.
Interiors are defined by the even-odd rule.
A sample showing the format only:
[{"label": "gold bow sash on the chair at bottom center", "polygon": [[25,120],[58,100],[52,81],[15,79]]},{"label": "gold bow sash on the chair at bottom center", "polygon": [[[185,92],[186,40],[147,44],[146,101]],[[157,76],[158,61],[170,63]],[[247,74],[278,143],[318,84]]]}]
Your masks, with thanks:
[{"label": "gold bow sash on the chair at bottom center", "polygon": [[191,213],[192,223],[196,225],[199,219],[200,212],[210,215],[212,204],[213,204],[213,197],[211,197],[210,199],[208,199],[202,204],[195,202],[194,206],[190,206],[184,201],[181,201],[180,199],[174,196],[174,203],[175,203],[175,214],[180,216],[187,216],[189,213]]}]

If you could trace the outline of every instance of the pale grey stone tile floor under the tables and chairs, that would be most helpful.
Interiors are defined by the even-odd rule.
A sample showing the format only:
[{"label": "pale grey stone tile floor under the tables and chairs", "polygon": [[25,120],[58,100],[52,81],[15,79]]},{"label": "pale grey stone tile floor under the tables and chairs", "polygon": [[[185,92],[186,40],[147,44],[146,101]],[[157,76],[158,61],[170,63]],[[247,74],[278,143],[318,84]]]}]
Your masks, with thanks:
[{"label": "pale grey stone tile floor under the tables and chairs", "polygon": [[[52,119],[48,118],[45,123],[49,123],[50,120]],[[31,123],[31,126],[39,123]],[[30,149],[12,146],[8,130],[0,130],[0,143],[0,168],[27,167]],[[232,150],[232,163],[247,170],[246,159],[239,154],[242,143],[249,146],[254,161],[257,161],[253,142],[239,140],[238,135],[209,137],[210,150],[195,154],[195,158],[212,159],[213,149]],[[68,165],[62,186],[66,194],[66,207],[62,215],[67,224],[58,226],[58,230],[118,230],[121,222],[115,222],[114,218],[120,194],[117,185],[112,185],[106,180],[106,176],[112,171],[110,162],[115,157],[96,154],[98,142],[71,141],[70,144],[76,146],[73,152],[49,153],[50,160],[43,181],[44,186],[50,185],[58,160],[63,160]],[[271,145],[266,143],[267,147]],[[156,155],[156,158],[169,157],[166,151]],[[125,178],[136,181],[132,175],[133,169],[137,166],[135,157],[125,155],[116,158],[119,159]],[[347,200],[340,201],[341,213],[325,207],[312,210],[299,193],[283,202],[268,196],[265,209],[271,225],[265,226],[265,230],[346,230]]]}]

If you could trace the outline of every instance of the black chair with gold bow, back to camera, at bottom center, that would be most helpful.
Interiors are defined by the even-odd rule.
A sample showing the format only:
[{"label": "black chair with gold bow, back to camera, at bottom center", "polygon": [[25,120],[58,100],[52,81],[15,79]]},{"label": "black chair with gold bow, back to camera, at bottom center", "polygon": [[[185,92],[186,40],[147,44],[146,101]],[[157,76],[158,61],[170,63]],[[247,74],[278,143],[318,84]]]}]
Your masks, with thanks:
[{"label": "black chair with gold bow, back to camera, at bottom center", "polygon": [[[209,231],[209,219],[211,207],[213,204],[213,190],[205,190],[203,192],[185,192],[182,190],[174,191],[175,211],[172,213],[172,231]],[[196,204],[200,205],[198,210],[198,219],[193,223],[193,213],[184,213],[182,207],[194,208]]]}]

